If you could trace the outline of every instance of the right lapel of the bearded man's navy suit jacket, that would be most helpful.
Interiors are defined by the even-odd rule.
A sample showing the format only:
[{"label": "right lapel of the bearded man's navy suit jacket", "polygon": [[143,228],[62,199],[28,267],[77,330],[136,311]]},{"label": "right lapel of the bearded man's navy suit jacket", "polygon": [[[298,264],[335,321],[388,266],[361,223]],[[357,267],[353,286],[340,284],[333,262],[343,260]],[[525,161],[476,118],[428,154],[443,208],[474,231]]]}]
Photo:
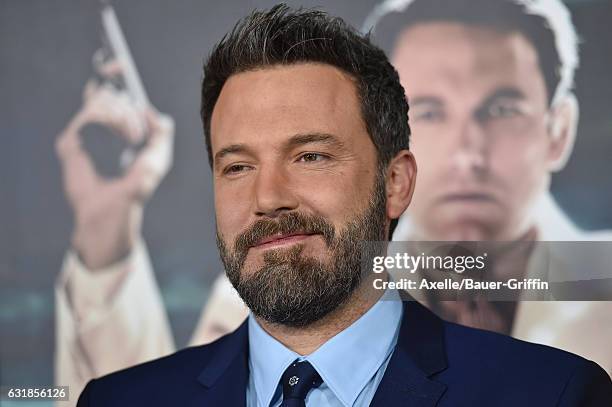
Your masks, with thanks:
[{"label": "right lapel of the bearded man's navy suit jacket", "polygon": [[435,406],[446,385],[430,376],[444,369],[442,321],[418,302],[406,301],[395,351],[370,405]]}]

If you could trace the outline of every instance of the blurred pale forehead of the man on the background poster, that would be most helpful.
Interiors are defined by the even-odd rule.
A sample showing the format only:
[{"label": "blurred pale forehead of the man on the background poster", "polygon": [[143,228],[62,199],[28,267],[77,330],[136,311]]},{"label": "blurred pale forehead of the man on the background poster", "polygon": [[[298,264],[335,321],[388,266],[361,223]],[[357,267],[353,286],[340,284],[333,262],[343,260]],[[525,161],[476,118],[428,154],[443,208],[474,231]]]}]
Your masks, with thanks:
[{"label": "blurred pale forehead of the man on the background poster", "polygon": [[400,34],[392,59],[410,97],[435,92],[469,98],[501,86],[533,97],[546,93],[537,52],[518,32],[418,24]]}]

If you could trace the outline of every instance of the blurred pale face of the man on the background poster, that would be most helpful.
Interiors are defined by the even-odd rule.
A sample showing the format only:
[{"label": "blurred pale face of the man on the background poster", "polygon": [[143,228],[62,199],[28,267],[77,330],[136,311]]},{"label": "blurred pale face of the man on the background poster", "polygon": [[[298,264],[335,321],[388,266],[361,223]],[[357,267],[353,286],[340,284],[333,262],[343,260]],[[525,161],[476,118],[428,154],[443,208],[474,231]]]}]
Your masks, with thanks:
[{"label": "blurred pale face of the man on the background poster", "polygon": [[538,56],[518,33],[454,23],[404,31],[393,53],[410,104],[421,238],[516,239],[547,188],[551,137]]}]

